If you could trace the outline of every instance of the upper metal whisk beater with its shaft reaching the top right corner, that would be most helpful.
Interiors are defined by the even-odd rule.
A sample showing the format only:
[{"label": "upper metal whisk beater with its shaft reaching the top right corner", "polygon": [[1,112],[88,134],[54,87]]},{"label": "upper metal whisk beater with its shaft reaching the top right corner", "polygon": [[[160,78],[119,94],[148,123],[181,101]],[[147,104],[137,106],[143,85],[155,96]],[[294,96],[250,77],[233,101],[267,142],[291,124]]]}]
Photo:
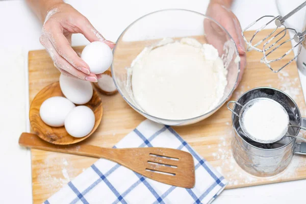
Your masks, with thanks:
[{"label": "upper metal whisk beater with its shaft reaching the top right corner", "polygon": [[[284,17],[281,16],[281,15],[278,15],[278,16],[272,16],[272,15],[265,15],[265,16],[262,16],[260,17],[259,19],[257,19],[256,21],[252,22],[251,24],[249,24],[243,31],[242,31],[242,37],[244,39],[244,41],[246,42],[247,44],[247,51],[250,51],[250,50],[257,50],[258,52],[263,52],[263,49],[264,48],[259,48],[258,46],[260,44],[262,44],[265,40],[267,40],[269,37],[271,37],[273,35],[273,33],[275,33],[275,31],[281,27],[284,27],[285,29],[283,30],[284,32],[279,32],[279,33],[283,33],[284,36],[282,37],[285,37],[286,36],[286,25],[284,24],[285,23],[285,20],[287,18],[289,18],[290,16],[292,16],[293,14],[295,14],[297,11],[299,11],[300,9],[302,9],[304,6],[306,6],[306,1],[304,3],[302,3],[301,5],[299,5],[298,7],[296,7],[294,10],[292,10],[290,13],[288,13],[287,15],[285,15]],[[252,35],[252,37],[250,38],[250,40],[247,40],[245,35],[244,35],[244,32],[247,31],[248,29],[250,28],[253,28],[255,24],[258,24],[258,22],[260,21],[266,21],[267,23],[263,24],[259,29],[257,29],[255,31],[255,33]],[[261,40],[258,40],[257,42],[253,42],[254,39],[256,39],[256,35],[262,31],[263,29],[265,29],[267,27],[268,24],[274,22],[275,25],[276,25],[276,28],[269,34],[267,35],[265,38],[261,39]],[[279,34],[278,33],[278,34]],[[277,34],[277,35],[278,35]],[[253,44],[252,44],[253,43]]]}]

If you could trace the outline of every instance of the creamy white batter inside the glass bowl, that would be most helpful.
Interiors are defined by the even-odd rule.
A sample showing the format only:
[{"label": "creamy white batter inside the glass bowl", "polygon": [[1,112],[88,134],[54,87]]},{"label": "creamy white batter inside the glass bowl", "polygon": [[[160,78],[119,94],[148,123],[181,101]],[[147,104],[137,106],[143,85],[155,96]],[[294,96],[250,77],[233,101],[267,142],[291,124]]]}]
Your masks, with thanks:
[{"label": "creamy white batter inside the glass bowl", "polygon": [[145,47],[132,62],[136,103],[146,113],[188,119],[214,109],[227,84],[218,50],[194,38],[165,38]]}]

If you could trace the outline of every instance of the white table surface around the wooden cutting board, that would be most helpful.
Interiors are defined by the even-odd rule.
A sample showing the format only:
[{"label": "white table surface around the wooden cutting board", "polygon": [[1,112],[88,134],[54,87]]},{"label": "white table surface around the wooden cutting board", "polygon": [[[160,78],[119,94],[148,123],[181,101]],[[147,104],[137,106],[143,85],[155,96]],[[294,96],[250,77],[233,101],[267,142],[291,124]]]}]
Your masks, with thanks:
[{"label": "white table surface around the wooden cutting board", "polygon": [[[95,28],[112,41],[116,41],[123,29],[132,21],[149,12],[182,8],[205,13],[209,3],[208,0],[71,0],[67,2],[87,16]],[[302,1],[279,2],[282,3],[281,12],[288,12]],[[239,18],[242,28],[262,15],[278,15],[274,0],[236,0],[233,11]],[[301,12],[287,22],[300,29],[303,17],[304,13]],[[29,50],[43,48],[39,43],[40,30],[40,22],[23,1],[0,0],[0,49],[22,46],[25,59],[24,72],[17,73],[19,75],[15,75],[13,80],[0,81],[0,107],[5,105],[6,107],[1,109],[12,110],[10,117],[0,112],[0,137],[3,142],[0,148],[0,203],[32,203],[30,151],[20,148],[17,141],[21,132],[29,130],[29,121],[26,119],[29,110],[27,58]],[[81,35],[74,35],[72,38],[73,45],[87,43],[88,41]],[[0,70],[5,68],[0,62]],[[5,73],[2,78],[10,76],[10,70],[6,70]],[[303,90],[306,90],[306,77],[300,74],[300,79]],[[5,83],[9,83],[9,86]],[[24,94],[12,94],[20,87],[23,87]],[[4,98],[9,102],[18,101],[18,103],[4,102]],[[17,110],[22,111],[16,111],[13,106],[20,106],[21,108]],[[305,189],[306,180],[300,180],[224,190],[214,203],[298,203],[298,201],[304,203]]]}]

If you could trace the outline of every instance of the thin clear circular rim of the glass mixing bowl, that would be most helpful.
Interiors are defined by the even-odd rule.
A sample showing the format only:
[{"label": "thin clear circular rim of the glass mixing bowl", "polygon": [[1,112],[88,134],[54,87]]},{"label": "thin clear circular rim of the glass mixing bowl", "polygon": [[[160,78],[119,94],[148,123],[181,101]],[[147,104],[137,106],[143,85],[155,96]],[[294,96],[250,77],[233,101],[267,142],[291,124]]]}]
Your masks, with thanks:
[{"label": "thin clear circular rim of the glass mixing bowl", "polygon": [[[205,18],[208,18],[210,20],[212,20],[214,23],[216,23],[217,25],[219,25],[219,27],[227,34],[228,37],[230,37],[230,39],[234,42],[234,45],[235,45],[235,53],[237,56],[239,56],[239,52],[238,52],[238,48],[237,48],[237,45],[233,39],[233,37],[226,31],[226,29],[220,24],[218,23],[215,19],[205,15],[205,14],[202,14],[202,13],[199,13],[199,12],[196,12],[196,11],[191,11],[191,10],[188,10],[188,9],[162,9],[162,10],[158,10],[158,11],[154,11],[154,12],[150,12],[146,15],[143,15],[139,18],[137,18],[135,21],[133,21],[128,27],[126,27],[122,33],[120,34],[120,36],[118,37],[118,39],[120,39],[122,37],[122,35],[128,30],[130,29],[130,27],[135,24],[137,21],[139,21],[140,19],[148,16],[148,15],[151,15],[151,14],[155,14],[155,13],[159,13],[159,12],[165,12],[165,11],[187,11],[187,12],[191,12],[191,13],[195,13],[195,14],[199,14]],[[116,40],[116,45],[115,47],[113,48],[113,55],[115,54],[115,50],[116,50],[116,47],[117,47],[117,42],[118,42],[118,39]],[[162,121],[167,121],[167,122],[186,122],[186,121],[190,121],[190,120],[196,120],[196,119],[199,119],[203,116],[210,116],[211,114],[213,114],[214,112],[216,112],[219,108],[221,108],[221,106],[223,106],[225,104],[225,102],[232,96],[234,90],[236,89],[237,87],[237,83],[238,83],[238,79],[239,79],[239,74],[240,74],[240,63],[238,63],[238,72],[237,72],[237,76],[236,76],[236,82],[232,88],[232,90],[230,91],[230,93],[228,93],[228,95],[226,96],[226,98],[218,105],[216,106],[214,109],[210,110],[209,112],[205,113],[205,114],[202,114],[202,115],[199,115],[199,116],[196,116],[196,117],[192,117],[192,118],[186,118],[186,119],[165,119],[165,118],[160,118],[160,117],[156,117],[156,116],[153,116],[153,115],[150,115],[142,110],[140,110],[139,108],[135,107],[133,104],[130,103],[129,100],[127,100],[125,98],[125,96],[123,95],[122,91],[120,90],[120,87],[118,86],[117,82],[116,82],[116,79],[115,79],[115,74],[114,74],[114,68],[113,68],[113,63],[111,64],[111,72],[112,72],[112,77],[113,77],[113,81],[115,83],[115,86],[118,90],[118,92],[120,93],[120,95],[122,96],[122,98],[126,101],[127,104],[129,104],[134,110],[138,111],[139,113],[143,114],[145,117],[148,117],[148,118],[153,118],[153,119],[156,119],[156,120],[162,120]]]}]

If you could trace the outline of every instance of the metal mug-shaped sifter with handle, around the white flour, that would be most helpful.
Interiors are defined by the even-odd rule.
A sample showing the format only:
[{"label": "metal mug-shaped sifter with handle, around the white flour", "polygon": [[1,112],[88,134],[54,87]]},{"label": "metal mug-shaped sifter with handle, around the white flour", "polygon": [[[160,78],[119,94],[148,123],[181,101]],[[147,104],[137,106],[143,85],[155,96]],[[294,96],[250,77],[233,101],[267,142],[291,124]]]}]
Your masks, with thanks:
[{"label": "metal mug-shaped sifter with handle, around the white flour", "polygon": [[[274,100],[284,107],[290,121],[288,134],[293,137],[284,135],[278,141],[261,143],[250,139],[245,134],[239,122],[241,115],[237,113],[240,113],[249,101],[258,98]],[[235,131],[232,139],[233,156],[239,166],[248,173],[256,176],[272,176],[282,172],[289,165],[294,154],[306,155],[306,143],[296,142],[300,129],[305,130],[306,118],[301,117],[293,99],[283,91],[270,87],[251,89],[245,92],[230,110]]]}]

